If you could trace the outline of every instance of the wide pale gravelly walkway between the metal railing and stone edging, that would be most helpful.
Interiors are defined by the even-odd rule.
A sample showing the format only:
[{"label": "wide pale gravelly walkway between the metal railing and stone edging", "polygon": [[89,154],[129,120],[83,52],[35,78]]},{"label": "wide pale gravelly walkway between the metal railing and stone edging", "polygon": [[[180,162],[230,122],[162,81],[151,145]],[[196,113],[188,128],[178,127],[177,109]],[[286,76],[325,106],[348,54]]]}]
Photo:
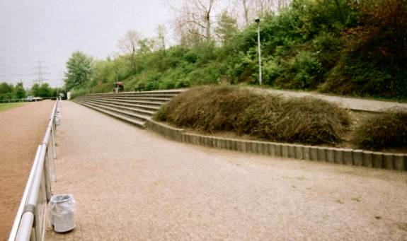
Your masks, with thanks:
[{"label": "wide pale gravelly walkway between the metal railing and stone edging", "polygon": [[46,240],[407,240],[407,173],[185,145],[62,103]]}]

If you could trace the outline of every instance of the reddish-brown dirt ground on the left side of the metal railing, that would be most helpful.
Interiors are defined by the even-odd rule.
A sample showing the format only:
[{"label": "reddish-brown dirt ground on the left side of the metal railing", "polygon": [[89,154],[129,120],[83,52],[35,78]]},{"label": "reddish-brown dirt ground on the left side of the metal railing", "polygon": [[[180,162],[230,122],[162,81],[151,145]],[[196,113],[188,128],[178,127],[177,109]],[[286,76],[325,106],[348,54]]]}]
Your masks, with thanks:
[{"label": "reddish-brown dirt ground on the left side of the metal railing", "polygon": [[0,112],[0,240],[8,238],[53,105],[44,100]]}]

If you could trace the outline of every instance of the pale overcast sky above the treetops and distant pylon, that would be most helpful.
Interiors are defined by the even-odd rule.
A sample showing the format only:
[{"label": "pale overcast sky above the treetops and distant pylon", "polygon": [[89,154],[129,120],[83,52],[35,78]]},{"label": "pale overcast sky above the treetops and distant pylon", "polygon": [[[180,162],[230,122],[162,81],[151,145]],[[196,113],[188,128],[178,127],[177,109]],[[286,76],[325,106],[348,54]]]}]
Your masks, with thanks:
[{"label": "pale overcast sky above the treetops and distant pylon", "polygon": [[62,86],[72,52],[104,59],[127,30],[153,37],[170,19],[164,0],[0,0],[0,82],[30,86],[40,60],[47,82]]}]

